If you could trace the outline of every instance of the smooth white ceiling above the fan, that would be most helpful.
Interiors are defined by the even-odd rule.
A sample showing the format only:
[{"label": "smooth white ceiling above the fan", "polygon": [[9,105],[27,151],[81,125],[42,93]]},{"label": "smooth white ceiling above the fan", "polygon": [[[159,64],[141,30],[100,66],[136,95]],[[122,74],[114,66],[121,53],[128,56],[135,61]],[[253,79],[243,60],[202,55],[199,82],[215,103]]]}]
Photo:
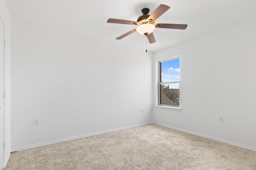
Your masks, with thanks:
[{"label": "smooth white ceiling above the fan", "polygon": [[[155,29],[156,43],[149,51],[158,51],[191,39],[256,19],[255,1],[8,1],[14,20],[36,23],[79,34],[81,38],[145,49],[145,37],[133,33],[115,38],[136,28],[135,25],[107,23],[108,18],[134,20],[142,8],[150,14],[159,4],[171,7],[156,23],[188,24],[186,30]],[[236,35],[234,35],[236,36]]]}]

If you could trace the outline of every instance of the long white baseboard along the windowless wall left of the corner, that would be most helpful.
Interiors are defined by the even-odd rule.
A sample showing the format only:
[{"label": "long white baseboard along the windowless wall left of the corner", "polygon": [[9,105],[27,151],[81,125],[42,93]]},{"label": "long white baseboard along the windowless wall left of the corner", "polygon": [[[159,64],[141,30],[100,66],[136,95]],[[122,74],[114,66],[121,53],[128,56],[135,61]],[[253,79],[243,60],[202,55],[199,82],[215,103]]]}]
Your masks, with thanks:
[{"label": "long white baseboard along the windowless wall left of the corner", "polygon": [[28,145],[28,146],[25,146],[25,147],[14,148],[14,149],[11,149],[11,150],[12,150],[12,152],[15,152],[15,151],[18,151],[18,150],[29,149],[29,148],[35,148],[35,147],[40,147],[40,146],[44,146],[44,145],[50,145],[50,144],[53,144],[53,143],[59,143],[59,142],[64,142],[64,141],[70,141],[70,140],[79,139],[79,138],[83,138],[83,137],[89,137],[89,136],[93,136],[93,135],[99,135],[99,134],[102,134],[102,133],[113,132],[113,131],[118,131],[118,130],[122,130],[122,129],[128,129],[128,128],[132,128],[132,127],[142,126],[142,125],[148,125],[148,124],[151,124],[151,123],[152,123],[152,122],[148,122],[148,123],[142,123],[142,124],[138,124],[138,125],[132,125],[132,126],[121,127],[121,128],[117,128],[117,129],[110,129],[110,130],[107,130],[107,131],[101,131],[101,132],[96,132],[96,133],[90,133],[90,134],[80,135],[80,136],[76,136],[76,137],[70,137],[70,138],[66,138],[66,139],[59,139],[59,140],[56,140],[56,141],[38,143],[38,144],[35,144],[35,145]]}]

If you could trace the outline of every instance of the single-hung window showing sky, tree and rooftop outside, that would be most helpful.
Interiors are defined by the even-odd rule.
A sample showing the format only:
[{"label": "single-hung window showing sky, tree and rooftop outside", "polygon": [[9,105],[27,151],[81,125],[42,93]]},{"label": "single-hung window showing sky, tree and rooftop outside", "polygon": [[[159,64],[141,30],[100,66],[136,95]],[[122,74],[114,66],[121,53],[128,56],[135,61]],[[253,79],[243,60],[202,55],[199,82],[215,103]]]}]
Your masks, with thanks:
[{"label": "single-hung window showing sky, tree and rooftop outside", "polygon": [[180,57],[158,62],[158,106],[180,107]]}]

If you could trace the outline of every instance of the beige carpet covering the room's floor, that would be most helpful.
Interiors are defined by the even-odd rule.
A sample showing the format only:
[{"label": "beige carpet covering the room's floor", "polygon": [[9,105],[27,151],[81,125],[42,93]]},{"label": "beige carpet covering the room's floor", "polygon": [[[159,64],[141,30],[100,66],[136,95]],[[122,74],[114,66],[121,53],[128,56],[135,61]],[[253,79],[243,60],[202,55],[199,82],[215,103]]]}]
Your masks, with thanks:
[{"label": "beige carpet covering the room's floor", "polygon": [[255,170],[256,152],[150,124],[12,153],[20,169]]}]

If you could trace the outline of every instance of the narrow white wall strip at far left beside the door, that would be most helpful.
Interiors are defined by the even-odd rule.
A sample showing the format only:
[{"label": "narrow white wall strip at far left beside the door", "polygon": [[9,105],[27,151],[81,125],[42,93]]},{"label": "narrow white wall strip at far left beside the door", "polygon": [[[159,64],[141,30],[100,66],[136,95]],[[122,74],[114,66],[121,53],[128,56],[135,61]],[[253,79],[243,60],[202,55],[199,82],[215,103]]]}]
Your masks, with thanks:
[{"label": "narrow white wall strip at far left beside the door", "polygon": [[[10,71],[10,16],[8,9],[6,7],[6,3],[4,0],[0,1],[1,6],[1,18],[4,22],[5,26],[5,40],[6,40],[6,47],[5,47],[5,91],[6,91],[6,98],[4,104],[4,142],[5,142],[5,150],[4,150],[4,164],[6,165],[11,151],[11,71]],[[4,166],[5,166],[4,165]]]}]

